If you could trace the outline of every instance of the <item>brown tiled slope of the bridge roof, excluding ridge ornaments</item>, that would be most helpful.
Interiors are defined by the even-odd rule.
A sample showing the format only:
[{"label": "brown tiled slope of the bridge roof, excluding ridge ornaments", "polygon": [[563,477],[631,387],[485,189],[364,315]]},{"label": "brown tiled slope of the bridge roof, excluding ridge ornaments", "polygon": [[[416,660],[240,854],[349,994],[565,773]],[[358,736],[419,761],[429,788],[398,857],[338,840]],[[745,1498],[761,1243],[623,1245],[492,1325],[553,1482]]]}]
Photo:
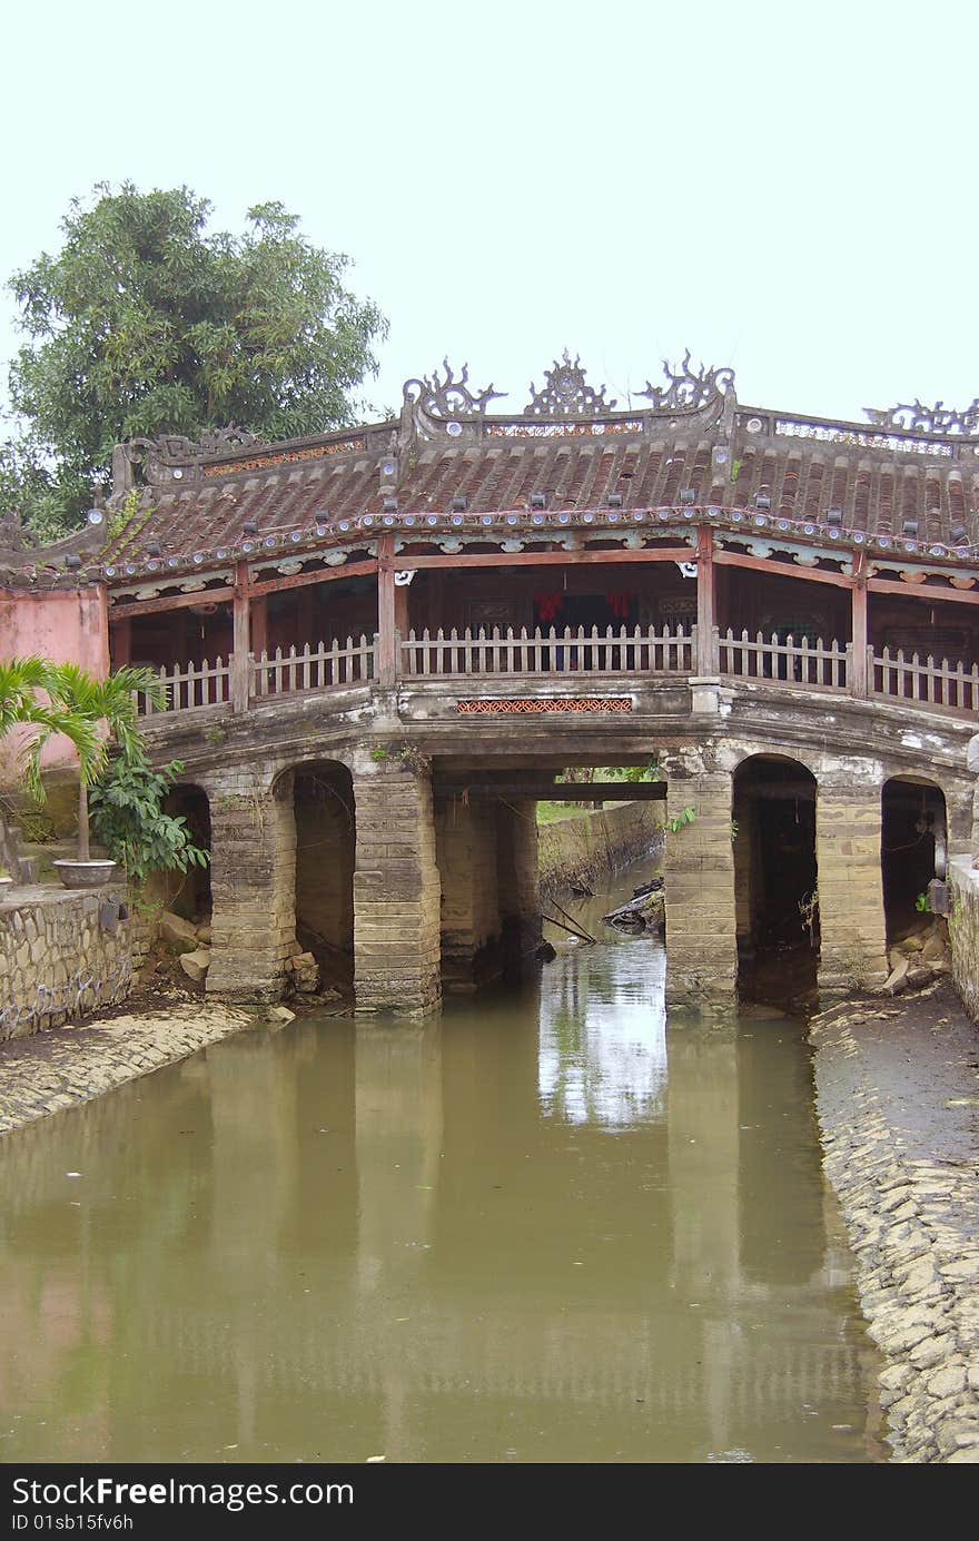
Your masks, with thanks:
[{"label": "brown tiled slope of the bridge roof, excluding ridge ornaments", "polygon": [[[245,468],[225,461],[205,465],[191,484],[145,492],[145,512],[102,559],[142,564],[153,542],[163,558],[241,550],[250,522],[257,525],[259,541],[276,536],[276,546],[294,533],[293,546],[302,552],[350,538],[364,516],[376,533],[385,496],[396,499],[399,527],[405,519],[407,527],[416,527],[433,515],[441,524],[453,498],[466,499],[466,525],[487,513],[523,516],[532,495],[543,495],[547,524],[560,513],[577,522],[586,510],[607,518],[609,495],[615,495],[623,518],[692,502],[718,510],[720,524],[740,512],[772,529],[780,519],[799,533],[816,527],[805,529],[808,538],[836,525],[834,544],[913,536],[923,552],[931,542],[971,546],[979,512],[979,456],[971,447],[951,458],[944,445],[905,445],[893,435],[879,435],[885,442],[876,445],[746,431],[743,419],[757,418],[738,411],[728,442],[717,431],[691,431],[691,422],[672,431],[669,424],[654,424],[644,435],[581,435],[569,425],[567,435],[558,428],[541,438],[527,425],[524,436],[483,438],[469,445],[446,438],[421,444],[409,456],[402,452],[396,481],[384,487],[384,452],[367,453],[362,438],[348,452],[333,439],[331,453],[319,459],[270,456],[262,465],[253,453]],[[857,425],[853,431],[870,438]]]}]

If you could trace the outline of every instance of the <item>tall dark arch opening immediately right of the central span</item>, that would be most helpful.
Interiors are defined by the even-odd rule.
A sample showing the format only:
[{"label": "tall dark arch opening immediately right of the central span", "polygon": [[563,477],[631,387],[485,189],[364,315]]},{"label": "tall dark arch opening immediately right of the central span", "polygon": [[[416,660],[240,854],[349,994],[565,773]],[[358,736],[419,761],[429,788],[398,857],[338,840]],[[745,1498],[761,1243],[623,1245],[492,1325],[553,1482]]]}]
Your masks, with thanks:
[{"label": "tall dark arch opening immediately right of the central span", "polygon": [[[742,992],[772,994],[782,985],[797,992],[816,983],[816,777],[796,757],[752,754],[734,772],[731,838]],[[788,962],[791,968],[783,968]]]}]

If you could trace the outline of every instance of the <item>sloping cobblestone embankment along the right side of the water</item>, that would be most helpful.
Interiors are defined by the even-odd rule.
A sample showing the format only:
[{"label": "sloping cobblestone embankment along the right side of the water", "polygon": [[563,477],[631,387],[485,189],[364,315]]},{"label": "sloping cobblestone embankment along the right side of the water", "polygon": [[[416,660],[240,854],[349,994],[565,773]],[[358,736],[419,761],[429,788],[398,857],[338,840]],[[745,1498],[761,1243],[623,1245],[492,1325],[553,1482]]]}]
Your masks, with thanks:
[{"label": "sloping cobblestone embankment along the right side of the water", "polygon": [[979,1034],[942,985],[823,1012],[811,1042],[893,1459],[979,1464]]}]

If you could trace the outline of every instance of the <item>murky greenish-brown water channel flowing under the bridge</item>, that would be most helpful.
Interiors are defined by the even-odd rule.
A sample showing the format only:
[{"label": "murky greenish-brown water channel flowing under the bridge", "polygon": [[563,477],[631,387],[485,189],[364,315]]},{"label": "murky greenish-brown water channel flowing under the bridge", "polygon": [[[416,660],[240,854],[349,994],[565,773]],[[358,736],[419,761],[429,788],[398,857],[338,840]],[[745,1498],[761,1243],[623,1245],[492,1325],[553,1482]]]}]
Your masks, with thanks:
[{"label": "murky greenish-brown water channel flowing under the bridge", "polygon": [[0,1461],[866,1462],[802,1025],[520,994],[256,1031],[0,1142]]}]

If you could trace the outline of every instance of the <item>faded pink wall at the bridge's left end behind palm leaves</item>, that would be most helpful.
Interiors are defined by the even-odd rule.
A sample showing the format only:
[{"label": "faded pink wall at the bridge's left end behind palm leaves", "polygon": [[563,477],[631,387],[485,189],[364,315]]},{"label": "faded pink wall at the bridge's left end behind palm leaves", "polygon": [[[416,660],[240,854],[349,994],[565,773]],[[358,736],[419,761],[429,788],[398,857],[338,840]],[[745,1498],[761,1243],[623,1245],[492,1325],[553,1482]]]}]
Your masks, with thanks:
[{"label": "faded pink wall at the bridge's left end behind palm leaves", "polygon": [[[32,653],[56,664],[80,664],[89,673],[109,669],[109,629],[105,589],[46,590],[0,589],[0,658]],[[8,734],[0,741],[0,781],[17,778],[17,754],[23,737]],[[52,738],[45,766],[69,766],[74,750],[66,738]]]}]

